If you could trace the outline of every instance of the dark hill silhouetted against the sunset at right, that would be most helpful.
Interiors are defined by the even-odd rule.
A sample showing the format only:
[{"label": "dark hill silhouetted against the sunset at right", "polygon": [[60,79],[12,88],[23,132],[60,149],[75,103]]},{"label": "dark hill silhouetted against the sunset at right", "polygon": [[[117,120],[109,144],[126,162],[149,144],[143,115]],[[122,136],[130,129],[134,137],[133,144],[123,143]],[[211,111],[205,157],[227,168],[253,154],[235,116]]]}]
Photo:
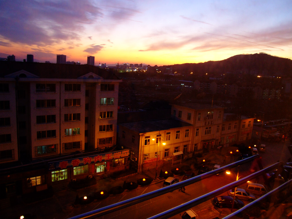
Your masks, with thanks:
[{"label": "dark hill silhouetted against the sunset at right", "polygon": [[234,55],[221,61],[204,63],[185,63],[170,65],[173,72],[190,73],[218,77],[221,74],[238,73],[261,76],[291,77],[292,60],[268,55],[266,53]]}]

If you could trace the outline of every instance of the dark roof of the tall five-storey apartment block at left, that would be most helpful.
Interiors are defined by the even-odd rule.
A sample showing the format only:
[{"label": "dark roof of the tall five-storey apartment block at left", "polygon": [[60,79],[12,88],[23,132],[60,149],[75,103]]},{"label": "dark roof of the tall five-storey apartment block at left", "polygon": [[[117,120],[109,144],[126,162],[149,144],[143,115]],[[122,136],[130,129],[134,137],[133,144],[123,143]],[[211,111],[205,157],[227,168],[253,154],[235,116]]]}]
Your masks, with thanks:
[{"label": "dark roof of the tall five-storey apartment block at left", "polygon": [[0,77],[25,70],[40,78],[75,79],[87,73],[94,73],[102,79],[120,80],[115,74],[93,65],[69,65],[41,62],[0,61]]}]

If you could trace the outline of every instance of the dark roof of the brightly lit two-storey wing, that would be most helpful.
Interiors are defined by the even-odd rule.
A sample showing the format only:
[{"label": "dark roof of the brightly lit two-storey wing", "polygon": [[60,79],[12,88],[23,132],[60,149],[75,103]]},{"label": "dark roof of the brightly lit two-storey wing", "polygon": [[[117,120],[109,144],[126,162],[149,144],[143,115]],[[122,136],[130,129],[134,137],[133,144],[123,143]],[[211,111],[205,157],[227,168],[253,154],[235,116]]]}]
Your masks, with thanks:
[{"label": "dark roof of the brightly lit two-storey wing", "polygon": [[159,131],[159,130],[168,130],[172,128],[192,126],[192,124],[175,120],[175,119],[161,119],[161,120],[151,120],[151,121],[126,122],[126,123],[120,123],[119,126],[124,126],[138,133],[147,133],[147,132],[153,132],[153,131]]}]

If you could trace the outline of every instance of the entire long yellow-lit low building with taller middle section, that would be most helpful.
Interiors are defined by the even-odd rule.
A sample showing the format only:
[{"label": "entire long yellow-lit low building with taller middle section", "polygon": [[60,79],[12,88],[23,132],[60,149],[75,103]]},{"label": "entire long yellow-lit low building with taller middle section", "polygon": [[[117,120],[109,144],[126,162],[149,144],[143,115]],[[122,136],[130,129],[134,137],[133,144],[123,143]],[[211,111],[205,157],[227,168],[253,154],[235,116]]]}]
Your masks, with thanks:
[{"label": "entire long yellow-lit low building with taller middle section", "polygon": [[254,118],[224,114],[224,107],[185,103],[171,112],[172,119],[119,124],[119,144],[137,171],[251,140]]}]

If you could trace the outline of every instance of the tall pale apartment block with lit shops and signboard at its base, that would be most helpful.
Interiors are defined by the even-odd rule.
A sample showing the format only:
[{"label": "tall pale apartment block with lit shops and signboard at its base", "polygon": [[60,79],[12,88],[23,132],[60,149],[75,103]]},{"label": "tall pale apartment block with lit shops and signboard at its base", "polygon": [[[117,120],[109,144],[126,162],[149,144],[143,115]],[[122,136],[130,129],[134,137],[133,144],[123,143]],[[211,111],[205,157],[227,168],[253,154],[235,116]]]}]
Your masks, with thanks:
[{"label": "tall pale apartment block with lit shops and signboard at its base", "polygon": [[[105,173],[115,166],[111,162],[124,159],[124,151],[104,152],[117,140],[121,80],[114,74],[91,65],[0,61],[0,66],[0,166],[49,160],[49,169],[28,178],[50,185]],[[27,179],[2,180],[5,185]]]}]

